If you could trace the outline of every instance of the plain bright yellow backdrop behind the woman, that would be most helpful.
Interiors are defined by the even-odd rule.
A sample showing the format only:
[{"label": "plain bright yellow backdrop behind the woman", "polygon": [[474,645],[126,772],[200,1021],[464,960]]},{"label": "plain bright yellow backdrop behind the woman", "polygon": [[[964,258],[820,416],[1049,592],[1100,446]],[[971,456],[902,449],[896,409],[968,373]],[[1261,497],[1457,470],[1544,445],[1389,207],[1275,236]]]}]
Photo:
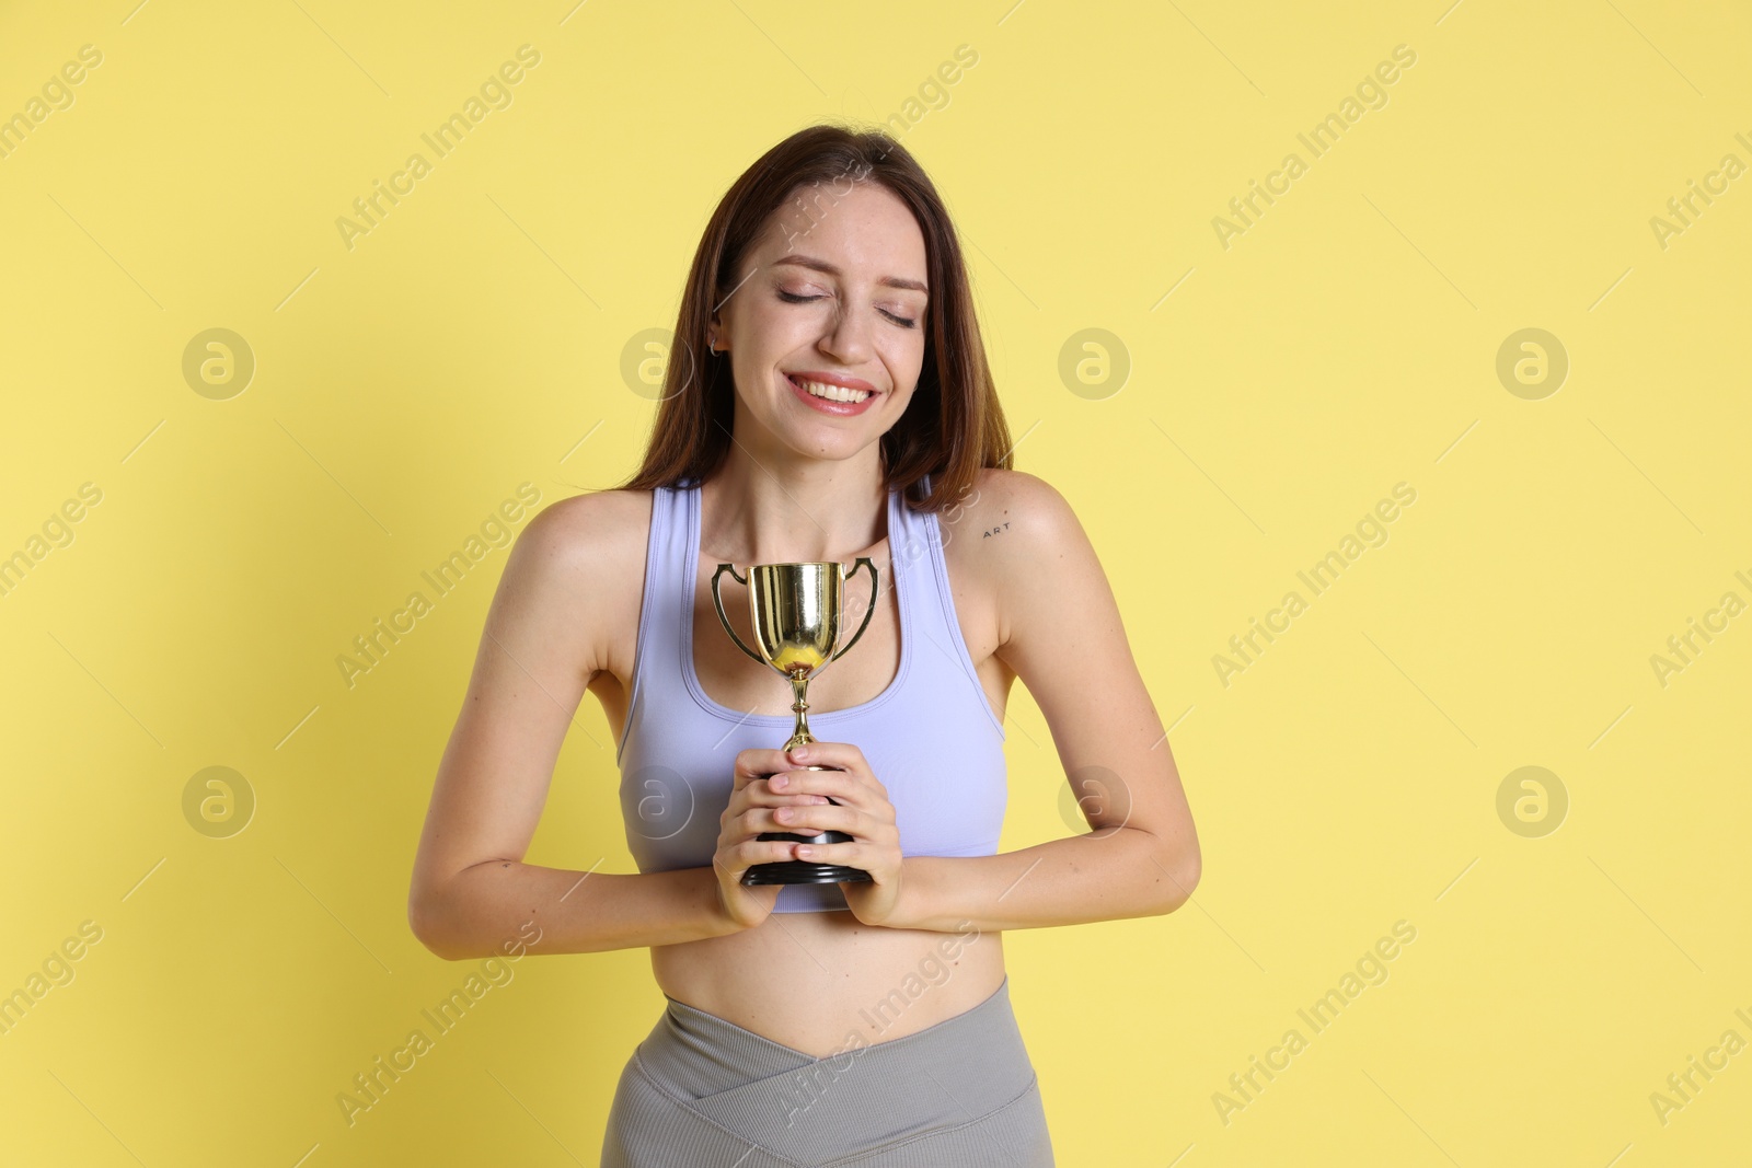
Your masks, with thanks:
[{"label": "plain bright yellow backdrop behind the woman", "polygon": [[[1205,856],[1172,916],[1006,937],[1060,1163],[1745,1163],[1752,1052],[1664,1124],[1650,1093],[1752,1040],[1752,615],[1664,686],[1650,655],[1752,601],[1752,177],[1664,249],[1650,217],[1752,163],[1748,40],[1724,0],[5,5],[0,116],[103,61],[0,158],[0,555],[103,497],[0,597],[0,993],[103,939],[0,1037],[0,1163],[596,1163],[661,1009],[645,951],[517,963],[342,1119],[478,968],[405,895],[505,550],[350,688],[335,658],[519,483],[620,482],[653,412],[622,350],[673,326],[724,189],[811,121],[902,112],[962,44],[901,140]],[[513,103],[349,250],[336,217],[522,44]],[[1296,133],[1400,44],[1312,158]],[[182,376],[212,327],[256,359],[226,401]],[[1130,361],[1107,396],[1060,376],[1091,327]],[[1524,327],[1568,354],[1544,399],[1496,375]],[[1225,686],[1212,657],[1400,482],[1389,541]],[[576,723],[529,860],[629,872],[594,700]],[[1069,834],[1020,686],[1009,730],[1004,848]],[[184,818],[212,765],[256,799],[230,839]],[[1524,765],[1568,793],[1544,837],[1498,818]],[[1388,981],[1312,1035],[1298,1007],[1400,919]]]}]

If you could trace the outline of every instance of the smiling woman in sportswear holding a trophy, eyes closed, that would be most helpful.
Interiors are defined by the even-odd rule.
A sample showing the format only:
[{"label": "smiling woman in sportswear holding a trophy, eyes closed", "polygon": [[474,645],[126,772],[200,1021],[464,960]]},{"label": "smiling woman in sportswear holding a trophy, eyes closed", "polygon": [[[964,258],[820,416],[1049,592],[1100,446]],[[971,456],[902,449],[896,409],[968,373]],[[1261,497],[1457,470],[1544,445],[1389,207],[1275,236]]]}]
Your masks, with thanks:
[{"label": "smiling woman in sportswear holding a trophy, eyes closed", "polygon": [[[668,1007],[603,1164],[1051,1164],[1000,932],[1170,912],[1198,841],[1090,541],[1009,469],[918,163],[811,126],[750,166],[694,257],[664,389],[632,480],[548,506],[510,555],[410,923],[450,960],[531,926],[538,953],[650,947]],[[869,627],[809,685],[820,741],[787,755],[790,690],[724,636],[710,580],[858,557]],[[746,592],[724,602],[752,641]],[[1016,678],[1093,830],[997,855]],[[522,863],[583,690],[615,728],[638,874]],[[829,830],[850,842],[799,842]],[[869,879],[743,883],[792,860]]]}]

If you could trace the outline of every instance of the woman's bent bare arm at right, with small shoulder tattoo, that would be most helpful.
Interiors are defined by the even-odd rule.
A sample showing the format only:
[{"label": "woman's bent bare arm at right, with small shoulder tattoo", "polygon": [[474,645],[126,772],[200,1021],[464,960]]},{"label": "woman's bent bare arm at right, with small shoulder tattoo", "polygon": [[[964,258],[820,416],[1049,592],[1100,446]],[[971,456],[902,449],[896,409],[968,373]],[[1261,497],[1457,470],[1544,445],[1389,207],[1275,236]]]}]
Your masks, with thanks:
[{"label": "woman's bent bare arm at right, with small shoulder tattoo", "polygon": [[1006,524],[969,548],[999,595],[997,657],[1046,714],[1091,830],[995,856],[908,856],[885,923],[1006,930],[1172,912],[1198,884],[1198,834],[1107,576],[1051,485],[1014,471],[986,483],[955,531]]}]

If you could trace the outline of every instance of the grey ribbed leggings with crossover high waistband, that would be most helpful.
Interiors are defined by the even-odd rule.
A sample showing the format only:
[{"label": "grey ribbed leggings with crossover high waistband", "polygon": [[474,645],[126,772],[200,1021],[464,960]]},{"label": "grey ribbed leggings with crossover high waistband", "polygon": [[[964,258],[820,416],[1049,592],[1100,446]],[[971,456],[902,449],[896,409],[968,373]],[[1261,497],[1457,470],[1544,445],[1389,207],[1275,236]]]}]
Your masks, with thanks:
[{"label": "grey ribbed leggings with crossover high waistband", "polygon": [[816,1059],[669,998],[620,1072],[603,1168],[1051,1168],[1034,1065],[990,998]]}]

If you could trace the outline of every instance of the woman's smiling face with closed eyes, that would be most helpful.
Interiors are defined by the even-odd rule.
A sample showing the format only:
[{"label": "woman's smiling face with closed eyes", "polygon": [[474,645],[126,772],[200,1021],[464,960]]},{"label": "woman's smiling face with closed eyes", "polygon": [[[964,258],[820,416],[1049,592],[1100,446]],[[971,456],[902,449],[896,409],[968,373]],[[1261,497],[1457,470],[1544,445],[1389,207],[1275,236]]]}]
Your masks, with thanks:
[{"label": "woman's smiling face with closed eyes", "polygon": [[[887,187],[848,179],[794,191],[713,329],[736,380],[736,441],[755,459],[827,461],[876,443],[918,383],[925,285],[925,236]],[[820,396],[822,382],[837,401]]]}]

